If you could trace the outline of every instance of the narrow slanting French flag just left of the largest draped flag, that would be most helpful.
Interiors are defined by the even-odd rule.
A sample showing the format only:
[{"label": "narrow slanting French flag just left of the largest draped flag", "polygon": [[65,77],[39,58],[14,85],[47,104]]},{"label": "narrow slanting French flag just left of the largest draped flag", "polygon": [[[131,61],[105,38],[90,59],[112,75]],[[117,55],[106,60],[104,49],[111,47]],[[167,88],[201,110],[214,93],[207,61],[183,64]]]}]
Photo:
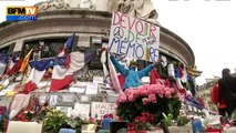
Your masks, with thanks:
[{"label": "narrow slanting French flag just left of the largest draped flag", "polygon": [[24,93],[29,93],[38,88],[38,84],[40,83],[45,71],[50,66],[51,61],[52,59],[42,59],[39,61],[30,62],[31,71],[27,80],[27,83],[24,85],[24,90],[23,90]]}]

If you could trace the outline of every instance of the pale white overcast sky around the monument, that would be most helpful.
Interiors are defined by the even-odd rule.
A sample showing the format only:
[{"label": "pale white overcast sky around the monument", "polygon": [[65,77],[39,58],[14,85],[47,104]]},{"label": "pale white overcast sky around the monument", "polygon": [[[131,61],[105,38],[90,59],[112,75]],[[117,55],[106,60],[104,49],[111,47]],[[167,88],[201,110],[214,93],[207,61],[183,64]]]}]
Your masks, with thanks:
[{"label": "pale white overcast sky around the monument", "polygon": [[[42,0],[0,0],[0,22],[7,6],[32,6]],[[44,0],[43,0],[44,1]],[[220,76],[223,68],[236,68],[236,0],[152,0],[158,22],[178,34],[192,48],[197,84],[206,78]],[[3,34],[0,34],[3,35]]]}]

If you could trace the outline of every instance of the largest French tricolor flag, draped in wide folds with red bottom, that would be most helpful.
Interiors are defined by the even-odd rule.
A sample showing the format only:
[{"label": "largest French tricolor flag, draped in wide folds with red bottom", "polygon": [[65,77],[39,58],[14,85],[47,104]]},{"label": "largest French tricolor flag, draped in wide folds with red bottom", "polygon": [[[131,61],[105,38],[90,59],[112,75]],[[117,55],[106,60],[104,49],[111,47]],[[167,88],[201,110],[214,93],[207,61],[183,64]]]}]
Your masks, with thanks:
[{"label": "largest French tricolor flag, draped in wide folds with red bottom", "polygon": [[95,51],[91,52],[72,52],[66,58],[63,52],[60,53],[53,66],[50,91],[60,91],[70,85],[73,73],[83,69],[95,55]]}]

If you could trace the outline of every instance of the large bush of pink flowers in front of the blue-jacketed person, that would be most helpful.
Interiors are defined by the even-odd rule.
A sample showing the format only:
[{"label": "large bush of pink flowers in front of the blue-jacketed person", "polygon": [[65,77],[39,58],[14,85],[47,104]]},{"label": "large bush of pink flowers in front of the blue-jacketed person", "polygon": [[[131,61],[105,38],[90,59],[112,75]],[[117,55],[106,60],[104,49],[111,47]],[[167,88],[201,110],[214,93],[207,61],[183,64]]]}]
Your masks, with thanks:
[{"label": "large bush of pink flowers in front of the blue-jacketed person", "polygon": [[179,109],[178,93],[172,88],[157,83],[126,89],[119,96],[116,113],[122,120],[143,121],[155,125],[163,119],[162,113],[172,113],[173,119],[176,119]]}]

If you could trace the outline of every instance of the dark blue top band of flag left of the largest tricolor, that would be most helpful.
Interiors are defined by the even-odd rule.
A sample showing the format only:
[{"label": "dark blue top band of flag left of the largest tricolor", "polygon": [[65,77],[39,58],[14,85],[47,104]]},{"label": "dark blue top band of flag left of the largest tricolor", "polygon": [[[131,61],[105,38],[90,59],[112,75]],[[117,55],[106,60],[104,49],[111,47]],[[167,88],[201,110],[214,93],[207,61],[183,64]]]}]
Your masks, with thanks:
[{"label": "dark blue top band of flag left of the largest tricolor", "polygon": [[30,66],[34,68],[35,70],[39,70],[39,71],[48,70],[50,66],[51,60],[52,59],[42,59],[39,61],[32,61],[32,62],[30,62]]}]

